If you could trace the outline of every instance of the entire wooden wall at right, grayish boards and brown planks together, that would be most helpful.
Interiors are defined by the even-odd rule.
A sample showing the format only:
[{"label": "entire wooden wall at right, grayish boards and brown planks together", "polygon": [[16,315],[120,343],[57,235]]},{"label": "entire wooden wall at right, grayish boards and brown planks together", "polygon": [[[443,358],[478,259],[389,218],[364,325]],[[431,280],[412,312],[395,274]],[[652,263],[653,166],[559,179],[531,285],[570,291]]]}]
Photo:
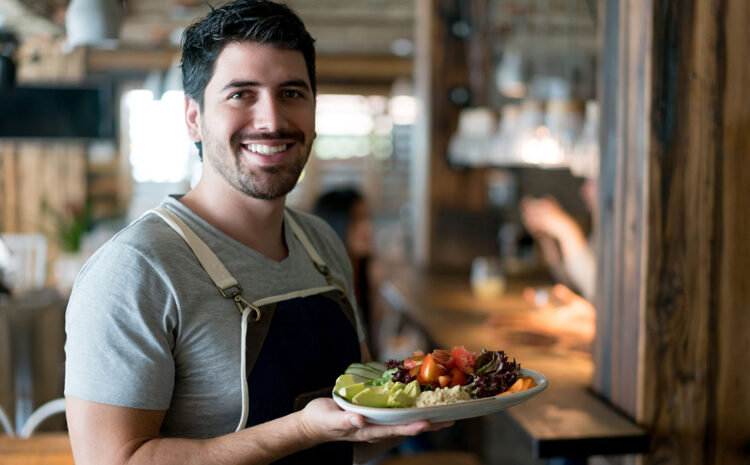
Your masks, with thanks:
[{"label": "entire wooden wall at right, grayish boards and brown planks together", "polygon": [[595,387],[642,463],[747,464],[750,3],[605,3]]}]

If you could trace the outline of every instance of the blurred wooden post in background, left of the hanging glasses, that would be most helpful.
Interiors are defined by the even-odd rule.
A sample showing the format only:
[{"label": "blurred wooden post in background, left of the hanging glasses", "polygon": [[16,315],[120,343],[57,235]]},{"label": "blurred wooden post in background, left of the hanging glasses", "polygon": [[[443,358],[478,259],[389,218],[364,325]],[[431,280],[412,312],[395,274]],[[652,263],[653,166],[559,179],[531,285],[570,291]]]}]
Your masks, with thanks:
[{"label": "blurred wooden post in background, left of the hanging glasses", "polygon": [[[411,172],[415,264],[456,268],[465,263],[451,253],[438,218],[446,209],[481,210],[486,205],[484,170],[457,171],[448,164],[448,143],[460,108],[450,90],[467,87],[466,44],[451,33],[456,0],[417,0],[414,80],[418,101]],[[468,261],[467,261],[468,262]]]}]

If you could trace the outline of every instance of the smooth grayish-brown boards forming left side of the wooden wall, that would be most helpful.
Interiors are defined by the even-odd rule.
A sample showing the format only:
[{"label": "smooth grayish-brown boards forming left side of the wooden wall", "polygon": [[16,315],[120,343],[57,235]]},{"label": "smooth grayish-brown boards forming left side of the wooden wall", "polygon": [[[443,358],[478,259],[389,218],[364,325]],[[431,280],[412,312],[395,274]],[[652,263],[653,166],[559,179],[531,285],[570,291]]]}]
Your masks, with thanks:
[{"label": "smooth grayish-brown boards forming left side of the wooden wall", "polygon": [[601,168],[596,243],[599,286],[594,389],[635,418],[644,299],[644,186],[648,158],[650,2],[603,9]]}]

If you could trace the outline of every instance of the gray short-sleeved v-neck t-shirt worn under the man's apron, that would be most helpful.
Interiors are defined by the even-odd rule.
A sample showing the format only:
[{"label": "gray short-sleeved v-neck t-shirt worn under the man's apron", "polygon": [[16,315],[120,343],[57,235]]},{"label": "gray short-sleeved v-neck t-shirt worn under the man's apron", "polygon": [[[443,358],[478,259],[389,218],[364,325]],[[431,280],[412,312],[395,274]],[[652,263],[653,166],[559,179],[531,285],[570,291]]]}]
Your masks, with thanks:
[{"label": "gray short-sleeved v-neck t-shirt worn under the man's apron", "polygon": [[[175,197],[162,206],[208,245],[248,301],[327,285],[289,227],[284,227],[289,256],[276,262],[206,223]],[[292,214],[356,305],[341,241],[323,220]],[[65,322],[65,395],[166,410],[164,436],[231,433],[242,404],[240,322],[234,302],[220,295],[185,241],[164,220],[146,215],[99,249],[76,279]]]}]

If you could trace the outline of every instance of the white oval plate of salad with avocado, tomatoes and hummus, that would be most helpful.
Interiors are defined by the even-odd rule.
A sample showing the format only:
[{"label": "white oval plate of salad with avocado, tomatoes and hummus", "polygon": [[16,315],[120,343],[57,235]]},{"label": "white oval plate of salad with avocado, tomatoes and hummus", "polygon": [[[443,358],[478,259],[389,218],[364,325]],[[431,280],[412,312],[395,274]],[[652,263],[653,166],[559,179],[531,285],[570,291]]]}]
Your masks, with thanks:
[{"label": "white oval plate of salad with avocado, tomatoes and hummus", "polygon": [[522,369],[503,351],[474,353],[456,346],[385,364],[352,364],[337,379],[333,397],[373,423],[448,421],[503,410],[547,384],[543,375]]}]

